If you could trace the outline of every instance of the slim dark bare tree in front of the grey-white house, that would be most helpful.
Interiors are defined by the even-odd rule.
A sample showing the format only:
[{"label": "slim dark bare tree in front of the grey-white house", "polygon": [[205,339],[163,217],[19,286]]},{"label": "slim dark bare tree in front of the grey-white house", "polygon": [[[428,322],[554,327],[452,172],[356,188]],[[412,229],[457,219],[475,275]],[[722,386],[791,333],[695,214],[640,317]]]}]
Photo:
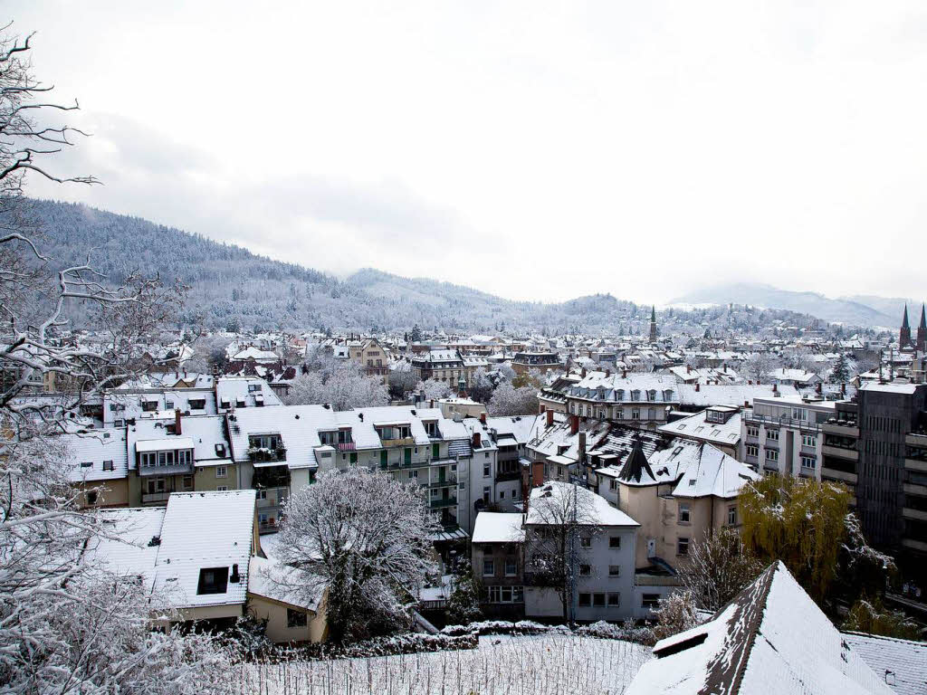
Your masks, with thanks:
[{"label": "slim dark bare tree in front of the grey-white house", "polygon": [[534,492],[528,502],[525,582],[556,591],[564,620],[570,623],[574,619],[581,539],[601,532],[594,496],[585,487],[552,481]]}]

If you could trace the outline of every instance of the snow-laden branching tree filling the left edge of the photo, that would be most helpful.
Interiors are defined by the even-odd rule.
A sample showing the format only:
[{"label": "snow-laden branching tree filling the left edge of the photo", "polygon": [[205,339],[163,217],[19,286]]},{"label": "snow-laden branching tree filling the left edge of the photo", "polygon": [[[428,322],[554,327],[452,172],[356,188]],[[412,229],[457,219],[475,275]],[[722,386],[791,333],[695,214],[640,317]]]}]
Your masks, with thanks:
[{"label": "snow-laden branching tree filling the left edge of the photo", "polygon": [[[42,163],[78,132],[53,122],[70,107],[45,106],[48,89],[32,78],[29,50],[28,39],[0,37],[0,363],[13,375],[0,393],[0,689],[226,691],[229,669],[211,638],[153,632],[152,612],[170,615],[170,605],[86,554],[108,531],[78,509],[57,435],[86,398],[134,375],[143,338],[157,335],[182,293],[133,274],[114,286],[85,260],[58,266],[42,252],[21,215],[24,176],[94,179],[60,179]],[[82,310],[101,336],[93,348],[60,339]],[[52,373],[67,396],[17,399]]]}]

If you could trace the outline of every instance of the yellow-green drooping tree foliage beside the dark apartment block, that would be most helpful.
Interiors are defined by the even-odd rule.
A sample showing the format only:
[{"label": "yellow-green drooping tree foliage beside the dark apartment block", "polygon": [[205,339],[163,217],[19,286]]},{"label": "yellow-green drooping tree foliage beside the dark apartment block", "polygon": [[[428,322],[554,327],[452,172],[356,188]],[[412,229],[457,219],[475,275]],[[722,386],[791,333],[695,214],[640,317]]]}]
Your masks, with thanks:
[{"label": "yellow-green drooping tree foliage beside the dark apartment block", "polygon": [[845,486],[768,475],[741,491],[743,543],[767,562],[785,562],[821,602],[836,578],[849,504]]}]

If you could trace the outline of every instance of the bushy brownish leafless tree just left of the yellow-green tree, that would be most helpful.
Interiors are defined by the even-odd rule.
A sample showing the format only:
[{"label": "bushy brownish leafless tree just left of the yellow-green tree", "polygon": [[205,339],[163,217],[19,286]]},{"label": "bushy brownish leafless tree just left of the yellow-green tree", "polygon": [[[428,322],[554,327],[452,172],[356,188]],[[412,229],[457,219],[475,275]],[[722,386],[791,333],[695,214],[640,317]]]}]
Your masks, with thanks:
[{"label": "bushy brownish leafless tree just left of the yellow-green tree", "polygon": [[699,608],[714,612],[762,569],[762,563],[743,546],[737,529],[725,527],[692,544],[689,561],[679,566],[679,579]]}]

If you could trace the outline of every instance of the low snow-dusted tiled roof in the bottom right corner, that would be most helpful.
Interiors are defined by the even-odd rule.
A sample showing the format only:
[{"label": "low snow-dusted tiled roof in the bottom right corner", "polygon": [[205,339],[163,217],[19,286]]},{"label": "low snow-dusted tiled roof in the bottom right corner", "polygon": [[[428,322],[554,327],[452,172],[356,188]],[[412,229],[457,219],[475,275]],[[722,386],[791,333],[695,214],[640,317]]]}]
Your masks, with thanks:
[{"label": "low snow-dusted tiled roof in the bottom right corner", "polygon": [[844,632],[844,640],[898,695],[923,695],[927,685],[927,642]]}]

